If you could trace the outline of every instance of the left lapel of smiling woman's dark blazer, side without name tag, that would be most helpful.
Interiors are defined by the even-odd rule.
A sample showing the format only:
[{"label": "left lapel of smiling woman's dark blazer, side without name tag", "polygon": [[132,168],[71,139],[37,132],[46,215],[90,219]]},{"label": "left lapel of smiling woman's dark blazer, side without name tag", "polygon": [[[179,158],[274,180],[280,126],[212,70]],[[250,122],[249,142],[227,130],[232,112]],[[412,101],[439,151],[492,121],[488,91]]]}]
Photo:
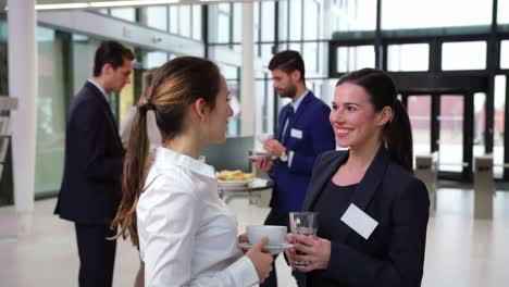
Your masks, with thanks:
[{"label": "left lapel of smiling woman's dark blazer, side without name tag", "polygon": [[342,166],[347,160],[348,151],[342,152],[336,159],[334,159],[327,166],[323,169],[323,172],[315,175],[315,179],[311,182],[312,185],[310,185],[308,188],[308,196],[306,197],[306,201],[303,203],[305,211],[309,211],[314,207],[316,199],[322,194],[327,182],[331,180],[334,173],[336,173],[339,166]]}]

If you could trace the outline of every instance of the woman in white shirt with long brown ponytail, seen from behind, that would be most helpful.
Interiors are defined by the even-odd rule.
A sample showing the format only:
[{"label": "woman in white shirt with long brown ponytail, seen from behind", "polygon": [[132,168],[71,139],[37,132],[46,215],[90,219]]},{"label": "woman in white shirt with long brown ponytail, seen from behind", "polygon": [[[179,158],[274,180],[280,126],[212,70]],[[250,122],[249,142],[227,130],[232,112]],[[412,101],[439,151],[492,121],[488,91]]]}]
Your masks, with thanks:
[{"label": "woman in white shirt with long brown ponytail, seen from behind", "polygon": [[[226,82],[212,62],[176,58],[158,68],[138,102],[123,173],[123,199],[112,223],[145,262],[145,286],[253,286],[271,270],[261,239],[237,248],[234,215],[218,195],[212,166],[198,160],[226,139],[233,112]],[[162,147],[149,157],[147,112]]]}]

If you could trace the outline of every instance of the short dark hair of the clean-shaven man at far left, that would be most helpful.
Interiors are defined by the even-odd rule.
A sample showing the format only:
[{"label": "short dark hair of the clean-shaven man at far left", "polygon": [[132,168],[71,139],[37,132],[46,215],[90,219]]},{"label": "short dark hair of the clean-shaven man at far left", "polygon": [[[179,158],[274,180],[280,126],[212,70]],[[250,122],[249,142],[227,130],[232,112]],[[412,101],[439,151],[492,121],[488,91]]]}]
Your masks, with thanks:
[{"label": "short dark hair of the clean-shaven man at far left", "polygon": [[102,66],[109,63],[114,70],[124,64],[124,59],[134,60],[133,52],[117,41],[103,41],[96,51],[94,59],[94,76],[101,75]]}]

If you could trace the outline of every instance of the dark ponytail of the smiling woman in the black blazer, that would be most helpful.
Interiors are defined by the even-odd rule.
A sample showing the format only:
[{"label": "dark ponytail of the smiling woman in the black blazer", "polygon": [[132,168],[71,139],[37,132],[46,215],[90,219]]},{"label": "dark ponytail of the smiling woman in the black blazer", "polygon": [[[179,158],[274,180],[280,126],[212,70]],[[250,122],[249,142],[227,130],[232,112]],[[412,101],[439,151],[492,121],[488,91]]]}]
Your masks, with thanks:
[{"label": "dark ponytail of the smiling woman in the black blazer", "polygon": [[393,104],[393,118],[386,125],[384,139],[390,158],[413,173],[412,129],[407,110],[399,99]]}]

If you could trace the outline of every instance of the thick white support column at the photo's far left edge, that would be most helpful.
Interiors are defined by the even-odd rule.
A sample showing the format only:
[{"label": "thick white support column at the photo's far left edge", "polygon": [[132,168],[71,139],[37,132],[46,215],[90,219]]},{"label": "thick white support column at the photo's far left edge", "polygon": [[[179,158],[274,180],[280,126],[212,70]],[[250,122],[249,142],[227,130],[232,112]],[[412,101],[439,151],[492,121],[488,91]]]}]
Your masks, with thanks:
[{"label": "thick white support column at the photo's far left edge", "polygon": [[34,210],[37,92],[37,17],[35,0],[8,0],[9,96],[17,234],[29,234]]}]

